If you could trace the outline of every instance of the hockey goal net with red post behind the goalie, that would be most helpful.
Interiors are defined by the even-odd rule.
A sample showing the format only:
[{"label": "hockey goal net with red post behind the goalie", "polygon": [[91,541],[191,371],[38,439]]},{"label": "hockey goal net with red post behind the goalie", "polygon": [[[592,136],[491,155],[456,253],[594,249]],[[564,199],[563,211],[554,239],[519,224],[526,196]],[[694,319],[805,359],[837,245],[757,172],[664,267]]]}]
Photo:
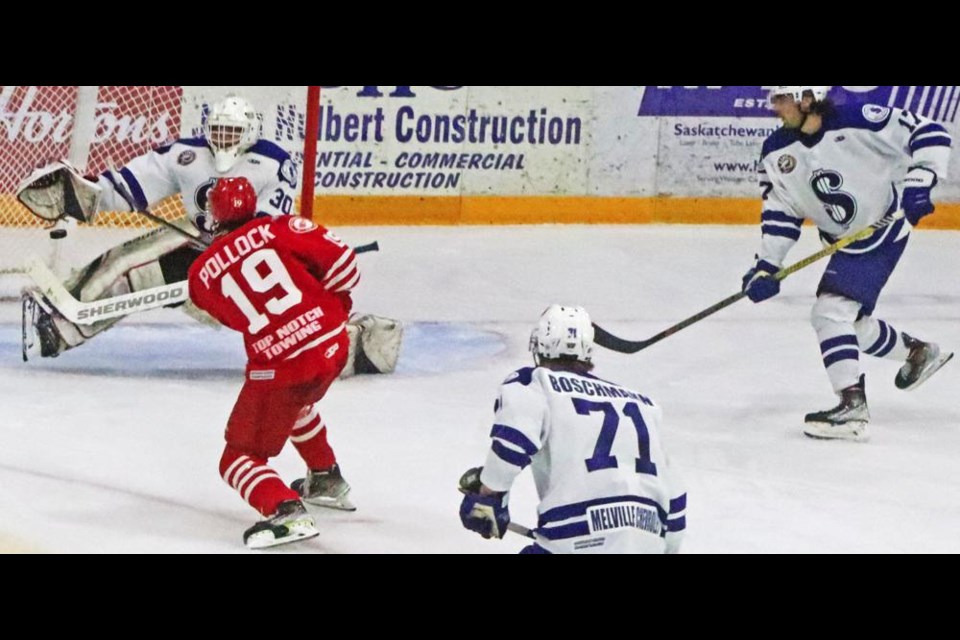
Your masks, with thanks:
[{"label": "hockey goal net with red post behind the goalie", "polygon": [[[251,99],[265,124],[267,116],[287,117],[292,126],[283,141],[275,124],[264,127],[264,137],[302,160],[306,87],[0,86],[0,299],[15,299],[28,284],[24,265],[31,257],[66,277],[155,227],[129,212],[101,213],[91,225],[69,219],[51,225],[16,200],[25,176],[64,158],[87,175],[119,168],[157,146],[199,135],[207,105],[229,93]],[[183,215],[179,196],[151,211],[168,220]]]}]

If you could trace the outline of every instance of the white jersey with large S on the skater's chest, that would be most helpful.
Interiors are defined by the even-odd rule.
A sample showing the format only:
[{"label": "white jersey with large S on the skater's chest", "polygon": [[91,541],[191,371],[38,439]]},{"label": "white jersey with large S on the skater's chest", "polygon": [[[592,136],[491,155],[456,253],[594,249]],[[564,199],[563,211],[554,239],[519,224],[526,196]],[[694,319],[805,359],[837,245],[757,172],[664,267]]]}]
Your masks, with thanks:
[{"label": "white jersey with large S on the skater's chest", "polygon": [[[903,179],[913,167],[946,176],[951,138],[940,124],[902,109],[846,105],[824,116],[814,135],[783,127],[764,141],[761,260],[776,266],[811,220],[827,242],[872,225],[900,207]],[[904,221],[880,238],[846,251],[863,252],[887,235],[909,233]]]}]

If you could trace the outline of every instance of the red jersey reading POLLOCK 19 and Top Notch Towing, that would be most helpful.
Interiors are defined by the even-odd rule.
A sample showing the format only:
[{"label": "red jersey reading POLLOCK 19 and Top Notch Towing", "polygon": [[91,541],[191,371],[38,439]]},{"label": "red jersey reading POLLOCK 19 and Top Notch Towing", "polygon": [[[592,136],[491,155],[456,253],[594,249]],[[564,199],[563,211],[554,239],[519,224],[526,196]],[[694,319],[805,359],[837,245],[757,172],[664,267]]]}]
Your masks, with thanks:
[{"label": "red jersey reading POLLOCK 19 and Top Notch Towing", "polygon": [[255,218],[216,238],[190,267],[190,297],[243,333],[251,366],[329,348],[360,280],[353,249],[301,217]]}]

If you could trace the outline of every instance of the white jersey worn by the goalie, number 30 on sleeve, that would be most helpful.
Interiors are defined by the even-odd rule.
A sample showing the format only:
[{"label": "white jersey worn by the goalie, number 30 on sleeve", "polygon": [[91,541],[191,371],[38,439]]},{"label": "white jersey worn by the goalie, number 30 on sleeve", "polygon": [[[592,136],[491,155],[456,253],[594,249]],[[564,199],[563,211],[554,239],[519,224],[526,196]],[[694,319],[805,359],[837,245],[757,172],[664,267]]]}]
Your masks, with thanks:
[{"label": "white jersey worn by the goalie, number 30 on sleeve", "polygon": [[247,178],[256,189],[258,211],[276,216],[293,210],[297,171],[289,153],[268,140],[260,140],[229,171],[220,173],[203,138],[177,140],[134,158],[118,171],[101,174],[97,181],[103,187],[99,210],[130,210],[113,186],[114,180],[122,179],[140,207],[181,194],[190,221],[198,229],[208,231],[207,193],[218,179],[239,176]]}]

